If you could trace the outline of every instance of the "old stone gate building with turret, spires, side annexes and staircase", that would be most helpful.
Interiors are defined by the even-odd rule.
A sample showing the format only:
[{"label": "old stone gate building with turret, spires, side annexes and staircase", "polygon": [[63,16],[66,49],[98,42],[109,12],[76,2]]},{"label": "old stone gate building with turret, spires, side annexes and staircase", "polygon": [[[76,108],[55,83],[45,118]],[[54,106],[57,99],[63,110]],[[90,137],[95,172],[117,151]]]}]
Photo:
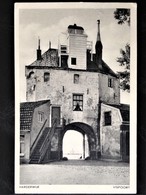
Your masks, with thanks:
[{"label": "old stone gate building with turret, spires, side annexes and staircase", "polygon": [[[129,115],[129,107],[126,111],[124,106],[121,108],[120,81],[102,59],[99,20],[97,25],[95,53],[84,28],[76,24],[68,26],[66,39],[58,49],[51,48],[50,43],[42,54],[39,40],[37,59],[25,69],[27,102],[21,103],[20,111],[21,160],[30,163],[61,160],[63,137],[68,130],[87,136],[90,159],[102,156],[125,159],[126,154],[128,158],[122,143],[129,142],[123,138],[122,129],[126,127],[129,132],[129,118],[124,126],[122,116],[124,112]],[[31,112],[26,111],[29,107],[33,108]],[[112,114],[115,109],[117,114]],[[107,141],[108,128],[111,143]]]}]

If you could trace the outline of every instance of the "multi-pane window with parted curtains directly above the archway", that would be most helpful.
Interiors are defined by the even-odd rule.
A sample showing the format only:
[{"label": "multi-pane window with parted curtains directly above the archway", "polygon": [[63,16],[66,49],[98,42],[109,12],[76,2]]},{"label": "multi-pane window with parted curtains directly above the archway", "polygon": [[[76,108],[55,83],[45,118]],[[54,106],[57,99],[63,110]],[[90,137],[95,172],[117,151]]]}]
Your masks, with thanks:
[{"label": "multi-pane window with parted curtains directly above the archway", "polygon": [[73,111],[83,111],[83,95],[73,94]]}]

